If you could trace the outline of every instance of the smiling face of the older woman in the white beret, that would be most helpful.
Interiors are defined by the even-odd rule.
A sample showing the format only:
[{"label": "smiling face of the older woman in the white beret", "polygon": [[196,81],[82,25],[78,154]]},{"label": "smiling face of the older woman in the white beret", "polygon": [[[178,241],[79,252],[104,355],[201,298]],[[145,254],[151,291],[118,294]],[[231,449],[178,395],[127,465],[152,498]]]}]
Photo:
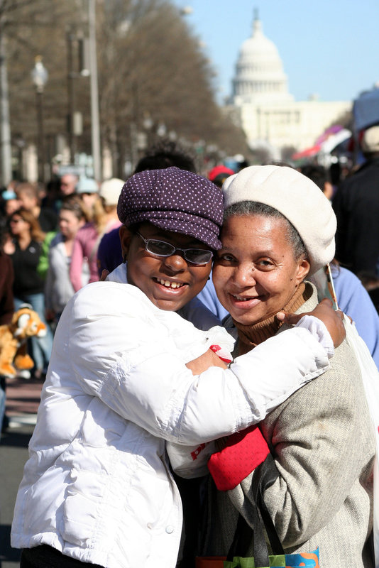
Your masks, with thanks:
[{"label": "smiling face of the older woman in the white beret", "polygon": [[234,215],[224,223],[221,242],[214,286],[221,304],[241,324],[280,311],[309,271],[306,259],[295,259],[284,219]]}]

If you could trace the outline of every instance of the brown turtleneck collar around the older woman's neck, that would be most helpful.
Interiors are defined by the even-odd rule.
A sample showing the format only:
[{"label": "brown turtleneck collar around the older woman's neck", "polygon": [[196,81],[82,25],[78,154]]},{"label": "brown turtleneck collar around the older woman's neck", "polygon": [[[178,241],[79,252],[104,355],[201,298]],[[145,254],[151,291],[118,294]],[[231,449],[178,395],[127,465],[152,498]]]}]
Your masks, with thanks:
[{"label": "brown turtleneck collar around the older woman's neck", "polygon": [[[308,299],[308,297],[306,297],[308,294],[304,294],[304,292],[305,284],[302,282],[297,290],[295,290],[295,294],[290,301],[282,307],[282,310],[278,310],[278,312],[296,312]],[[233,320],[233,323],[238,329],[238,355],[248,353],[248,351],[251,351],[251,349],[258,344],[264,342],[265,339],[273,337],[283,324],[283,322],[277,319],[276,315],[271,315],[265,320],[251,325],[239,324],[235,320]]]}]

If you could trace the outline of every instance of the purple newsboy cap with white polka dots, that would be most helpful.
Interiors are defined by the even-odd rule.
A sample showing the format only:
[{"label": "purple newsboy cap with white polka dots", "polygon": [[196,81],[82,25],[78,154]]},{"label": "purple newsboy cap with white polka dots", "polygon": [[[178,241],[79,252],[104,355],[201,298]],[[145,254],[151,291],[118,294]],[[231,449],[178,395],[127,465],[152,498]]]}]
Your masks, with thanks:
[{"label": "purple newsboy cap with white polka dots", "polygon": [[221,191],[201,175],[180,170],[145,170],[126,180],[117,205],[126,226],[150,222],[221,249],[219,232],[224,214]]}]

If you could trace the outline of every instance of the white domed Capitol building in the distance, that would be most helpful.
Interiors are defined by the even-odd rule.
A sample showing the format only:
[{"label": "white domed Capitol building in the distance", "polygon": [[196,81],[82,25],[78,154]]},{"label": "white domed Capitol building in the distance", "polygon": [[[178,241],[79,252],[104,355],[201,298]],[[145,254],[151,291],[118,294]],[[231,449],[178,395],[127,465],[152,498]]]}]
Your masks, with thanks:
[{"label": "white domed Capitol building in the distance", "polygon": [[295,101],[275,44],[266,38],[255,13],[253,33],[241,45],[229,109],[237,115],[252,151],[282,158],[285,148],[302,151],[351,110],[350,101]]}]

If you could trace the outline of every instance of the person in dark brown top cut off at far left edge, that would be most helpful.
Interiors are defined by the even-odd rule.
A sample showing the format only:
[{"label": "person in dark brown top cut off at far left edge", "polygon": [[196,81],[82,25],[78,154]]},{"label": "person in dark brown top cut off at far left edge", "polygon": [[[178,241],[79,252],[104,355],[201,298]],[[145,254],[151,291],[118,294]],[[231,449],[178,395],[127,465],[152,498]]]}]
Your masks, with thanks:
[{"label": "person in dark brown top cut off at far left edge", "polygon": [[[4,252],[6,241],[6,226],[0,224],[0,325],[11,323],[13,302],[13,265],[11,258]],[[6,377],[0,374],[0,430],[5,427],[5,401],[6,401]]]}]

